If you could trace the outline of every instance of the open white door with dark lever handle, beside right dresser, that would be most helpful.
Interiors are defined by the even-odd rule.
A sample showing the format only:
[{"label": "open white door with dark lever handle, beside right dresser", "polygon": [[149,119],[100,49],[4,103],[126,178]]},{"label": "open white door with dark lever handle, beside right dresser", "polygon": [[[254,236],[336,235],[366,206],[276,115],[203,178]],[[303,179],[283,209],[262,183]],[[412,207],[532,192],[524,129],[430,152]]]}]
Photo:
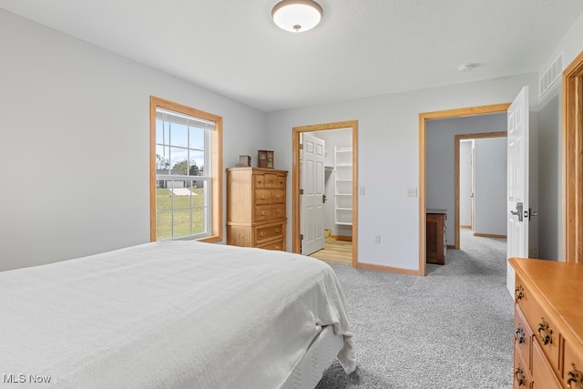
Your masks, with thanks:
[{"label": "open white door with dark lever handle, beside right dresser", "polygon": [[[528,257],[528,87],[508,108],[507,258]],[[514,296],[515,272],[506,263],[506,286]]]}]

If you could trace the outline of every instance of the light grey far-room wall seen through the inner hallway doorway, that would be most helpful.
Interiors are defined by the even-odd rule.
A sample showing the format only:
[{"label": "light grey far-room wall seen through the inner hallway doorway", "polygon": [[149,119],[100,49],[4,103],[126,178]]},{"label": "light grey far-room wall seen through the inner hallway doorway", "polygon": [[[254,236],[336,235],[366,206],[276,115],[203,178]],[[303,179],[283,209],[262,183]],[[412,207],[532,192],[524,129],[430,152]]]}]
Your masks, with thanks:
[{"label": "light grey far-room wall seen through the inner hallway doorway", "polygon": [[474,233],[506,236],[506,142],[506,137],[474,142]]}]

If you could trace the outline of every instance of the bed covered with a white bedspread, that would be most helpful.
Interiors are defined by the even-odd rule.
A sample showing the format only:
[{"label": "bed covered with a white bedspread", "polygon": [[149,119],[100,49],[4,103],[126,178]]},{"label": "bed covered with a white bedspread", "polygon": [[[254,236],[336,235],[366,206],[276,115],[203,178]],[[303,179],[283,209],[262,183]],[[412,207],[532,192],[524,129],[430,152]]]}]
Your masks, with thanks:
[{"label": "bed covered with a white bedspread", "polygon": [[301,255],[160,241],[0,272],[0,388],[313,388],[335,358],[353,372],[343,292]]}]

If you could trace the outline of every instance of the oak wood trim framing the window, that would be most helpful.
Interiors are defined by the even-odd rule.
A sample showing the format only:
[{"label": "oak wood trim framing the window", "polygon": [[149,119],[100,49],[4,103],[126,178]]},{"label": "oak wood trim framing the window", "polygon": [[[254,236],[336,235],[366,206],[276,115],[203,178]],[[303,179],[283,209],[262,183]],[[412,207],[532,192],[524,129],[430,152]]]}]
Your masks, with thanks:
[{"label": "oak wood trim framing the window", "polygon": [[156,107],[182,112],[216,123],[212,131],[211,159],[211,226],[210,236],[198,241],[222,241],[222,118],[192,107],[183,106],[163,98],[150,96],[149,104],[149,239],[156,241]]}]

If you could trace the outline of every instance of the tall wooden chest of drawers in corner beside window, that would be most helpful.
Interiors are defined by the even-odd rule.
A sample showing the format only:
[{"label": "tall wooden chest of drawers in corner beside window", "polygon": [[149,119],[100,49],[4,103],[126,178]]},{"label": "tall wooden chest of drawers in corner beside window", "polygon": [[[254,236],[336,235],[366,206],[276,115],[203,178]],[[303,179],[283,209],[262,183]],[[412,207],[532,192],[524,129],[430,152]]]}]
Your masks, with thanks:
[{"label": "tall wooden chest of drawers in corner beside window", "polygon": [[227,244],[285,251],[288,172],[227,169]]}]

